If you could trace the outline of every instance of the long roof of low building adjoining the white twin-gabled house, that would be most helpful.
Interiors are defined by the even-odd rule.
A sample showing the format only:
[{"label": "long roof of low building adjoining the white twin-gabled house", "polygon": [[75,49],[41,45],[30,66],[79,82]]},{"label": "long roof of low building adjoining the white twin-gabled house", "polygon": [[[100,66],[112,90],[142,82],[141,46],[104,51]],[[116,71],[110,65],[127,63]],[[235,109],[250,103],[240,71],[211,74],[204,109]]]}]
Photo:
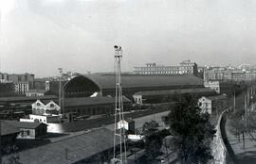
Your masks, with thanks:
[{"label": "long roof of low building adjoining the white twin-gabled house", "polygon": [[[128,98],[123,96],[123,103],[131,102]],[[82,98],[65,98],[64,107],[79,107],[79,106],[92,106],[115,104],[115,97],[82,97]]]}]

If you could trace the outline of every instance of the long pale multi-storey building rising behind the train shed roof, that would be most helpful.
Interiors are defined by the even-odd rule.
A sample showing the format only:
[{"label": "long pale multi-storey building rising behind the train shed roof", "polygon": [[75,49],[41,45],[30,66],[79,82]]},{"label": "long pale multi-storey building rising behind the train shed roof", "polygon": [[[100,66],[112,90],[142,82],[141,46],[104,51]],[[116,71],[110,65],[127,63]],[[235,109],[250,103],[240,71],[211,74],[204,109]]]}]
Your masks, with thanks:
[{"label": "long pale multi-storey building rising behind the train shed roof", "polygon": [[135,74],[194,74],[197,75],[197,64],[191,60],[180,62],[179,66],[162,66],[147,63],[146,67],[135,67]]}]

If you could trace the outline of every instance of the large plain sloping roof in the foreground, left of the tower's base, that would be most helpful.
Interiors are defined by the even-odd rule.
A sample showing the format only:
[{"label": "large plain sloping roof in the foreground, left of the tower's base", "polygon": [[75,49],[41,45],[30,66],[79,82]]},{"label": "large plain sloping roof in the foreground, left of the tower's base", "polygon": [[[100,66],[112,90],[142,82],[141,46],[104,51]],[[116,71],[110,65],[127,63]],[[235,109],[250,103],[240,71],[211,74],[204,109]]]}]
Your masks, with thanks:
[{"label": "large plain sloping roof in the foreground, left of the tower's base", "polygon": [[[22,151],[19,153],[20,162],[26,164],[75,163],[112,148],[113,136],[113,131],[106,128],[92,130],[82,135]],[[117,140],[116,143],[118,144],[119,141]]]}]

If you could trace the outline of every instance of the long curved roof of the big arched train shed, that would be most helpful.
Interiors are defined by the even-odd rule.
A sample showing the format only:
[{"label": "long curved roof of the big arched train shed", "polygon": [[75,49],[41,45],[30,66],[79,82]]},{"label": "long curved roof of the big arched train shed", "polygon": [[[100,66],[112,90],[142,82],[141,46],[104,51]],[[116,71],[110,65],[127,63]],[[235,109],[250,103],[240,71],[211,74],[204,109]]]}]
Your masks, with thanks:
[{"label": "long curved roof of the big arched train shed", "polygon": [[[64,85],[64,89],[74,84],[94,84],[98,90],[115,89],[116,74],[83,74],[72,78]],[[72,85],[73,84],[73,85]],[[122,88],[157,88],[166,86],[204,86],[203,79],[192,74],[180,75],[143,75],[122,74]]]}]

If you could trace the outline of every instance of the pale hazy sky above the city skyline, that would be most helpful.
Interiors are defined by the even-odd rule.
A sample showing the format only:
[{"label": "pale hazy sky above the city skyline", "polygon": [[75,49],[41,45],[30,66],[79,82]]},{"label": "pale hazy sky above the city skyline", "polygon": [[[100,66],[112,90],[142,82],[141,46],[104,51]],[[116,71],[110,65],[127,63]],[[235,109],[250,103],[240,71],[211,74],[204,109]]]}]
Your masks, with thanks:
[{"label": "pale hazy sky above the city skyline", "polygon": [[0,72],[256,64],[255,0],[0,0]]}]

